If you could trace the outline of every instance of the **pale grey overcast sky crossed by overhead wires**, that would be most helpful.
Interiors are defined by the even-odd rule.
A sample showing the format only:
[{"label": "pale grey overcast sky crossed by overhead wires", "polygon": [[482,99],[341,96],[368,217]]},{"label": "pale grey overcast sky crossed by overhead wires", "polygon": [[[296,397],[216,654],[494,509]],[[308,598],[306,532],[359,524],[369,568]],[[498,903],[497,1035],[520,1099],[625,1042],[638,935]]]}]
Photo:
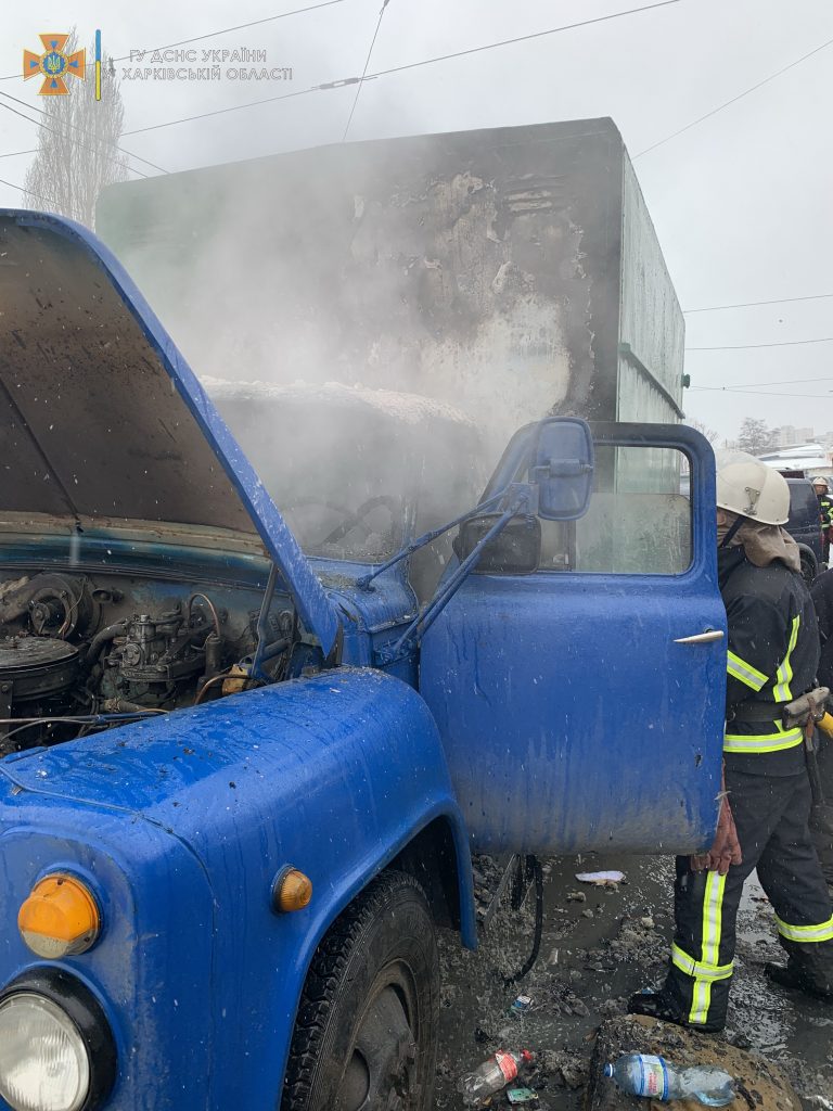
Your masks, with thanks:
[{"label": "pale grey overcast sky crossed by overhead wires", "polygon": [[[0,77],[21,70],[41,32],[101,28],[104,50],[167,46],[321,0],[87,0],[7,10]],[[650,0],[389,0],[368,72],[641,7]],[[341,0],[190,44],[265,50],[291,82],[245,86],[122,81],[127,131],[360,74],[380,0]],[[640,152],[831,41],[678,138]],[[188,48],[184,48],[188,49]],[[129,62],[118,62],[119,72]],[[227,63],[228,64],[228,63]],[[0,81],[32,107],[39,82]],[[355,86],[161,128],[123,139],[165,170],[254,158],[341,140]],[[0,98],[1,107],[20,108]],[[833,3],[680,2],[368,81],[350,139],[611,116],[634,158],[683,309],[833,293]],[[0,156],[37,146],[38,128],[0,112]],[[0,158],[22,183],[31,154]],[[141,164],[141,163],[138,163]],[[144,167],[147,170],[148,168]],[[21,194],[0,184],[0,204]],[[833,337],[833,298],[689,312],[686,346],[782,343]],[[721,437],[743,417],[833,429],[833,343],[686,353],[685,409]],[[820,379],[820,381],[804,381]],[[786,382],[786,384],[784,384]],[[762,383],[772,394],[761,396]],[[725,392],[724,387],[759,390]]]}]

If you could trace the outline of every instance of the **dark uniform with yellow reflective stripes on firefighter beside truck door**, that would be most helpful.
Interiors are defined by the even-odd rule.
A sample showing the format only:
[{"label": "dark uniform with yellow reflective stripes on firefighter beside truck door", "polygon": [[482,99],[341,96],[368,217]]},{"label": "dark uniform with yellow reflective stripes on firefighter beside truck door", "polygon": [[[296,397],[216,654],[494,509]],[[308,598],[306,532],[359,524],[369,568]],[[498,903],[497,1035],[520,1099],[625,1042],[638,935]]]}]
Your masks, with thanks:
[{"label": "dark uniform with yellow reflective stripes on firefighter beside truck door", "polygon": [[743,547],[721,549],[717,559],[729,618],[725,778],[743,862],[720,875],[678,858],[662,991],[675,1021],[701,1030],[725,1023],[737,907],[754,869],[775,910],[790,981],[833,995],[833,917],[807,830],[803,731],[780,720],[780,707],[815,680],[815,611],[801,575],[781,560],[755,567]]}]

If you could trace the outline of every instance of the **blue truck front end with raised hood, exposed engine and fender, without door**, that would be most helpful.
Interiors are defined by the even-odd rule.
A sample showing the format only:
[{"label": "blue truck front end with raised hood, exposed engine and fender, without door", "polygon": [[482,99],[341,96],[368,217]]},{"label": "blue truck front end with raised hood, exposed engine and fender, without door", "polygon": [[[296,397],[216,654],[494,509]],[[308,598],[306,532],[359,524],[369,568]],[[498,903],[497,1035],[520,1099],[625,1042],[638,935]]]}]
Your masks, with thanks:
[{"label": "blue truck front end with raised hood, exposed engine and fender, without door", "polygon": [[[29,212],[0,236],[0,1095],[274,1103],[319,942],[409,847],[475,941],[414,668],[361,667],[418,602],[392,571],[351,605],[364,514],[334,478],[315,536],[342,539],[302,553],[93,237]],[[409,506],[377,507],[384,544]]]}]

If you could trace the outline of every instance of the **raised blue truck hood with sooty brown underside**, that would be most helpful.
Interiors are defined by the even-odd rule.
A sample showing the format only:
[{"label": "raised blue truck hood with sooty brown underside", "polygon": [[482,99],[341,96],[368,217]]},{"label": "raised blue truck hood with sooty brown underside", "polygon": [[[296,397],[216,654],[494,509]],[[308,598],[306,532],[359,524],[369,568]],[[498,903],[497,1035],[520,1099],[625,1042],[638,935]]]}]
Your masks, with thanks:
[{"label": "raised blue truck hood with sooty brown underside", "polygon": [[257,532],[325,653],[335,640],[323,588],[124,270],[72,220],[14,209],[0,209],[0,512]]}]

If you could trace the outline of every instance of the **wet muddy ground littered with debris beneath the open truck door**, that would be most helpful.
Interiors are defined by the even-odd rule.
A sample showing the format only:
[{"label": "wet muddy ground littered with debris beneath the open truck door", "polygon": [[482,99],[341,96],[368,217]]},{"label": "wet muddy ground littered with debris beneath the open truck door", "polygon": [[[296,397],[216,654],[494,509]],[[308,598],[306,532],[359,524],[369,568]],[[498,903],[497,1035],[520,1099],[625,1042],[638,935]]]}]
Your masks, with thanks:
[{"label": "wet muddy ground littered with debris beneath the open truck door", "polygon": [[[616,889],[575,880],[575,872],[620,869]],[[629,994],[659,985],[672,932],[673,861],[668,858],[560,858],[544,863],[544,932],[534,969],[514,987],[532,945],[534,895],[521,911],[504,897],[476,953],[453,934],[441,938],[443,997],[435,1108],[461,1111],[459,1077],[495,1049],[528,1048],[539,1068],[529,1079],[538,1111],[578,1111],[593,1035],[604,1018],[623,1013]],[[571,900],[581,892],[583,900]],[[833,1005],[771,985],[767,960],[780,961],[772,911],[760,888],[746,885],[729,1024],[717,1038],[775,1061],[805,1111],[833,1111]],[[519,993],[533,1004],[522,1018],[509,1008]],[[496,1098],[495,1107],[508,1105]]]}]

